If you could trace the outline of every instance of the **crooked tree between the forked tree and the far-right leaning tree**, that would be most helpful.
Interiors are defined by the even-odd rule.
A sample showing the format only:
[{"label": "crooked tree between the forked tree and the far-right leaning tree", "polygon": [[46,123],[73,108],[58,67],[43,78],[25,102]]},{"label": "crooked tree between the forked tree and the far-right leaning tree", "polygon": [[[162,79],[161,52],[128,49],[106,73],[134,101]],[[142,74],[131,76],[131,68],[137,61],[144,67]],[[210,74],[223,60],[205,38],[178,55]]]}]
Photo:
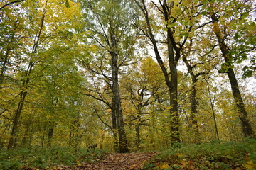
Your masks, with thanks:
[{"label": "crooked tree between the forked tree and the far-right leaning tree", "polygon": [[[191,78],[191,87],[188,89],[190,106],[188,112],[190,118],[188,120],[188,128],[192,128],[193,141],[199,142],[199,124],[198,124],[198,107],[200,106],[198,100],[198,81],[202,81],[202,77],[206,79],[206,75],[213,74],[213,69],[219,64],[218,50],[215,45],[213,35],[207,33],[205,29],[207,23],[201,23],[200,25],[194,25],[196,30],[194,36],[188,38],[189,45],[186,46],[185,55],[182,60],[186,64],[188,75]],[[207,81],[207,80],[206,80]],[[186,109],[185,109],[186,110]]]}]

